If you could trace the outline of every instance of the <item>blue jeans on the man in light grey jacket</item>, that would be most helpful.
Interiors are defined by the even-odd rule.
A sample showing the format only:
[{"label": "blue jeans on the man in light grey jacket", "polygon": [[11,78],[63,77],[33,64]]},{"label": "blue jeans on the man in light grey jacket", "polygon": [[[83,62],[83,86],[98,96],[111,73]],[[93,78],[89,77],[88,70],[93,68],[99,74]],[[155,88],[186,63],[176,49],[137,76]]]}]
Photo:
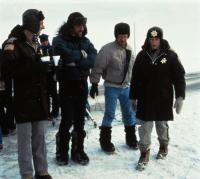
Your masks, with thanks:
[{"label": "blue jeans on the man in light grey jacket", "polygon": [[135,113],[132,111],[129,100],[129,88],[105,87],[105,113],[102,121],[102,126],[111,127],[112,121],[115,119],[115,111],[119,99],[122,121],[125,126],[136,124]]}]

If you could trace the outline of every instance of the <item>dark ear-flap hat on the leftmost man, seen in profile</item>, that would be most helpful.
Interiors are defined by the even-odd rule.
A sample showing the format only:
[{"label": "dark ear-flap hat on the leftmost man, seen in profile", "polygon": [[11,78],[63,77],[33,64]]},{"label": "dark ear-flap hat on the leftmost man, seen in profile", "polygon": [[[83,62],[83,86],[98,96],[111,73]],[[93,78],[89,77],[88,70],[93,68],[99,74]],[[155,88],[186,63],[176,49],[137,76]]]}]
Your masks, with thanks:
[{"label": "dark ear-flap hat on the leftmost man, seen in profile", "polygon": [[40,21],[44,20],[42,11],[37,9],[28,9],[22,15],[22,23],[24,29],[30,30],[37,34],[40,29]]}]

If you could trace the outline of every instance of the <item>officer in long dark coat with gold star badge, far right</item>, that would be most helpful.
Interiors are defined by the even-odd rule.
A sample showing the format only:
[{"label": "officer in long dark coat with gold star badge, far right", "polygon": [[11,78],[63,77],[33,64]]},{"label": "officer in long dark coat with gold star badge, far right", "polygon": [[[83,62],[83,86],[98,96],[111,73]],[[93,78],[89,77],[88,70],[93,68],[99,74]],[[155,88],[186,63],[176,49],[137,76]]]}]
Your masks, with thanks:
[{"label": "officer in long dark coat with gold star badge, far right", "polygon": [[139,127],[141,158],[138,164],[148,163],[153,121],[160,143],[157,157],[167,155],[169,142],[167,121],[173,120],[174,91],[176,113],[179,114],[181,111],[185,98],[184,76],[183,65],[178,55],[170,48],[168,41],[163,39],[162,29],[150,28],[133,66],[130,88],[132,108],[141,121]]}]

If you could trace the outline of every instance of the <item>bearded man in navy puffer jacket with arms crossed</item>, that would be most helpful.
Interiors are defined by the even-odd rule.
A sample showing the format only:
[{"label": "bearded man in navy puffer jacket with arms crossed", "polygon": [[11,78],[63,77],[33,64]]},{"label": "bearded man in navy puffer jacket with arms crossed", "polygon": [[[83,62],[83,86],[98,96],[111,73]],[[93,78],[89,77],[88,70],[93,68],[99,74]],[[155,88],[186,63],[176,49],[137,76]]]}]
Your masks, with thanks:
[{"label": "bearded man in navy puffer jacket with arms crossed", "polygon": [[[88,97],[87,78],[97,51],[86,37],[87,18],[80,12],[68,16],[53,39],[53,52],[61,57],[58,69],[61,123],[56,135],[56,161],[67,165],[72,136],[71,158],[81,165],[89,163],[84,151],[84,117]],[[70,132],[73,126],[72,133]]]}]

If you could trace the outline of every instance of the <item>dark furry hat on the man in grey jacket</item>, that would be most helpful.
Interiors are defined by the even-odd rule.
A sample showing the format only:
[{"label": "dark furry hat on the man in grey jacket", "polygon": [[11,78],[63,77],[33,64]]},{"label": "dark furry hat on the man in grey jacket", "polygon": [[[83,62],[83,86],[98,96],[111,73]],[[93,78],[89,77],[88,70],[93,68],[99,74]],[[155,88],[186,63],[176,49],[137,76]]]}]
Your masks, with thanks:
[{"label": "dark furry hat on the man in grey jacket", "polygon": [[118,23],[115,25],[114,34],[115,34],[115,38],[117,38],[119,34],[127,34],[129,37],[130,26],[127,23],[123,23],[123,22]]}]

